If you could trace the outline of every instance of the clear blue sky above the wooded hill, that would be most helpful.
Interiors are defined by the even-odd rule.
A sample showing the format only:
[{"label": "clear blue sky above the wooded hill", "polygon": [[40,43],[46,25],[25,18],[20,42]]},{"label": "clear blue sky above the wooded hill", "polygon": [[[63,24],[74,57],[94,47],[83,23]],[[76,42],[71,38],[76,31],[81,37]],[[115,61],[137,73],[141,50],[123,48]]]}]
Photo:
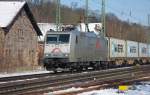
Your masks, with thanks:
[{"label": "clear blue sky above the wooded hill", "polygon": [[[132,23],[148,25],[150,0],[105,0],[106,12]],[[85,7],[85,0],[61,0],[67,6]],[[89,10],[101,12],[101,0],[89,0]]]}]

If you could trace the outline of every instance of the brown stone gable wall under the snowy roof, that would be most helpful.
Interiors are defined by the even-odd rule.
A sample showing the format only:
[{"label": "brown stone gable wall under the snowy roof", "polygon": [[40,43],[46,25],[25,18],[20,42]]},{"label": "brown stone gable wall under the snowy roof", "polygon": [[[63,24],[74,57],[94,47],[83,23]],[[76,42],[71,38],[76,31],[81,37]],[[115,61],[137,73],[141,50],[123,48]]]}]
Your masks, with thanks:
[{"label": "brown stone gable wall under the snowy roof", "polygon": [[32,67],[37,61],[37,33],[23,10],[5,35],[4,62],[8,68]]}]

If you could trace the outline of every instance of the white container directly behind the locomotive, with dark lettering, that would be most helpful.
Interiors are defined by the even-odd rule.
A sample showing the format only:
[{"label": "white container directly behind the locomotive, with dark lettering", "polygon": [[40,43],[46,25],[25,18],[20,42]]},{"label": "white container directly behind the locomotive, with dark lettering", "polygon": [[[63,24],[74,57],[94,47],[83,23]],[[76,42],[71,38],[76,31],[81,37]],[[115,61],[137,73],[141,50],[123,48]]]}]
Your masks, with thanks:
[{"label": "white container directly behind the locomotive, with dark lettering", "polygon": [[112,57],[126,57],[125,40],[110,38],[109,54]]}]

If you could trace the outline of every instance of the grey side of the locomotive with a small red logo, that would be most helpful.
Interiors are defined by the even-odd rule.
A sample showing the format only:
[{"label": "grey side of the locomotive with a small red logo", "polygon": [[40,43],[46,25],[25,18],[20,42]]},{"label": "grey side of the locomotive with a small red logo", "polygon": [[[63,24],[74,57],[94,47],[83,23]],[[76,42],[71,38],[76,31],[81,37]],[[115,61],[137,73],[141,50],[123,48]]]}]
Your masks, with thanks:
[{"label": "grey side of the locomotive with a small red logo", "polygon": [[76,61],[106,61],[107,41],[94,33],[80,33],[75,45]]}]

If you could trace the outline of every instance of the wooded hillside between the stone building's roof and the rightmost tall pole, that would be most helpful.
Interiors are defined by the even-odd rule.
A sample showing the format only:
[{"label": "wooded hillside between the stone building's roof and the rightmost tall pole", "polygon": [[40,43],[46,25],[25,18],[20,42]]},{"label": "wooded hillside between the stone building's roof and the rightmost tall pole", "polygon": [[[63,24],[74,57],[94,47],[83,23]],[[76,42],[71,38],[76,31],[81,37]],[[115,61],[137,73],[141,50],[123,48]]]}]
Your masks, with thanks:
[{"label": "wooded hillside between the stone building's roof and the rightmost tall pole", "polygon": [[[51,2],[50,2],[51,1]],[[29,2],[28,4],[36,18],[37,22],[55,23],[56,22],[56,3],[44,0],[35,0],[35,2]],[[84,22],[84,8],[68,7],[65,5],[60,6],[61,23],[76,24]],[[89,22],[98,22],[99,18],[95,12],[90,11]]]}]

